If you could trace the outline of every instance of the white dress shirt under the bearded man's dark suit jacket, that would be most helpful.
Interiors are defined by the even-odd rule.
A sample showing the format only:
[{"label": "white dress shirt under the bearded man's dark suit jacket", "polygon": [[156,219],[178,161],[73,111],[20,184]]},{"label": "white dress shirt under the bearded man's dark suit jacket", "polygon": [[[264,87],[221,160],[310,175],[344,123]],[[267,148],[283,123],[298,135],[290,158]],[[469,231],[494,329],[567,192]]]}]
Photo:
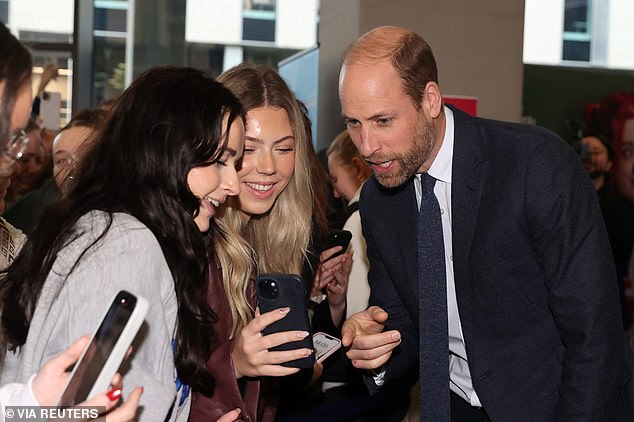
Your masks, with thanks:
[{"label": "white dress shirt under the bearded man's dark suit jacket", "polygon": [[[451,391],[465,399],[472,406],[481,407],[480,399],[473,389],[471,373],[467,363],[467,352],[460,325],[460,313],[456,299],[456,285],[453,272],[453,245],[451,243],[451,169],[453,163],[454,120],[453,112],[445,107],[445,135],[438,155],[427,173],[437,182],[434,194],[440,205],[443,242],[445,244],[445,270],[447,274],[447,313],[449,325],[449,377]],[[420,175],[416,175],[416,201],[420,208]]]}]

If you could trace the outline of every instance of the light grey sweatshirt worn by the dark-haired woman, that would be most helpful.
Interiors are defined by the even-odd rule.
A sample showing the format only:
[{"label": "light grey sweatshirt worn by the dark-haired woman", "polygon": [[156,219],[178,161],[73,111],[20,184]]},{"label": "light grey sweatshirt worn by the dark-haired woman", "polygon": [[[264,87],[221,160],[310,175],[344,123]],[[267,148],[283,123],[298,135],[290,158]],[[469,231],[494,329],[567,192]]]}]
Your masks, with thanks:
[{"label": "light grey sweatshirt worn by the dark-haired woman", "polygon": [[18,353],[6,354],[0,385],[26,383],[50,358],[82,335],[92,335],[123,289],[150,303],[133,354],[121,371],[123,395],[136,386],[144,387],[139,421],[163,421],[170,411],[169,420],[186,421],[190,397],[181,400],[182,390],[176,391],[171,346],[177,313],[174,281],[152,232],[128,214],[115,214],[106,236],[66,278],[79,255],[101,234],[105,218],[105,213],[92,211],[79,220],[83,233],[58,254],[33,313],[26,343]]}]

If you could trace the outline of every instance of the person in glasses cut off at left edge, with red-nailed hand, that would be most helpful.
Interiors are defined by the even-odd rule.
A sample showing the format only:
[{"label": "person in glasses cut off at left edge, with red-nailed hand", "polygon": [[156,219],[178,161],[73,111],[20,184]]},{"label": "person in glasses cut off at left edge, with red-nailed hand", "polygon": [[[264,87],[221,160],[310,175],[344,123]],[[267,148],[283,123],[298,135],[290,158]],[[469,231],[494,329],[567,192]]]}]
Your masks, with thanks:
[{"label": "person in glasses cut off at left edge, with red-nailed hand", "polygon": [[[32,59],[28,50],[9,29],[0,22],[0,183],[7,186],[7,179],[15,171],[20,154],[26,149],[28,137],[24,126],[27,124],[31,100]],[[0,212],[4,209],[4,194],[0,194]],[[22,248],[24,236],[4,219],[0,218],[2,253],[0,270],[9,265]],[[19,237],[18,237],[19,235]],[[3,280],[4,281],[4,280]],[[15,298],[12,298],[16,301]],[[4,330],[0,335],[3,342]],[[35,367],[27,382],[13,382],[0,387],[0,406],[4,418],[6,406],[53,406],[68,379],[68,367],[81,355],[88,338],[82,338],[68,347],[61,355],[52,358],[41,368]],[[102,392],[94,399],[81,403],[86,406],[104,406],[112,409],[118,403],[118,396]],[[108,394],[110,393],[110,395]],[[110,422],[131,421],[136,413],[141,388],[135,388],[128,400],[117,410],[108,414]],[[116,398],[111,398],[116,397]]]}]

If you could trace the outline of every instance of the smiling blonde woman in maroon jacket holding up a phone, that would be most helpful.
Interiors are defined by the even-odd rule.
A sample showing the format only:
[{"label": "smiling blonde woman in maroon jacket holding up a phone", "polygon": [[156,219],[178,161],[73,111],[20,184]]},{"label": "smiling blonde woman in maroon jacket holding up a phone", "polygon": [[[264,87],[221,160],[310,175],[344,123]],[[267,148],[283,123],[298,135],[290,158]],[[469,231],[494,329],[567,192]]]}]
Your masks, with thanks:
[{"label": "smiling blonde woman in maroon jacket holding up a phone", "polygon": [[[266,326],[284,318],[288,308],[255,313],[254,276],[301,274],[309,261],[312,146],[300,105],[275,70],[241,64],[218,80],[246,110],[245,150],[238,172],[240,193],[227,201],[216,218],[217,259],[208,278],[207,298],[218,322],[207,368],[218,388],[211,398],[194,395],[190,420],[213,419],[236,407],[249,420],[273,420],[275,397],[267,382],[256,377],[296,373],[298,369],[280,364],[306,357],[312,350],[268,351],[309,333],[262,335]],[[334,271],[346,259],[344,254],[329,261],[328,268],[333,268],[322,268],[322,280],[334,279]],[[306,281],[312,283],[312,279]]]}]

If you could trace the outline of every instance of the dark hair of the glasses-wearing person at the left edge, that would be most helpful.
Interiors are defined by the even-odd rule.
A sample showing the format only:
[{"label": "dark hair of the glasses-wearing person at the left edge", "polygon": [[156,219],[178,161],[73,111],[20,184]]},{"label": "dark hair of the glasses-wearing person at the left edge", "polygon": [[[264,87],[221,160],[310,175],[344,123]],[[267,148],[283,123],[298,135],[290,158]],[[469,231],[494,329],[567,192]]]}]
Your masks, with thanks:
[{"label": "dark hair of the glasses-wearing person at the left edge", "polygon": [[29,50],[0,22],[0,82],[4,83],[0,98],[0,149],[10,136],[11,114],[18,90],[30,83],[32,68]]}]

